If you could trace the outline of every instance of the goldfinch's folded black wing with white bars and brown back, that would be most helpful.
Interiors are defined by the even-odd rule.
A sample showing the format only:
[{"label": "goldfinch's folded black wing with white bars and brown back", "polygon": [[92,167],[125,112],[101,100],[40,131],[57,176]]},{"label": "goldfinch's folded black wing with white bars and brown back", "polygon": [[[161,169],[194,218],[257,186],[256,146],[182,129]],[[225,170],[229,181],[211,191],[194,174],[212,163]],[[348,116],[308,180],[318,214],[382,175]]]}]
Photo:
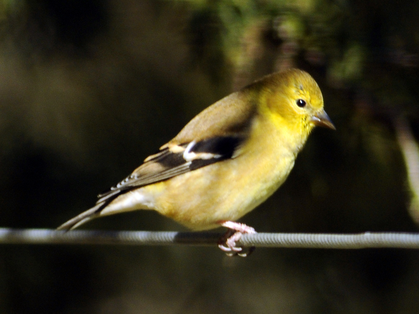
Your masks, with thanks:
[{"label": "goldfinch's folded black wing with white bars and brown back", "polygon": [[160,147],[157,154],[106,193],[97,203],[106,205],[121,193],[164,181],[238,155],[250,134],[256,103],[246,90],[233,93],[193,118],[179,134]]}]

